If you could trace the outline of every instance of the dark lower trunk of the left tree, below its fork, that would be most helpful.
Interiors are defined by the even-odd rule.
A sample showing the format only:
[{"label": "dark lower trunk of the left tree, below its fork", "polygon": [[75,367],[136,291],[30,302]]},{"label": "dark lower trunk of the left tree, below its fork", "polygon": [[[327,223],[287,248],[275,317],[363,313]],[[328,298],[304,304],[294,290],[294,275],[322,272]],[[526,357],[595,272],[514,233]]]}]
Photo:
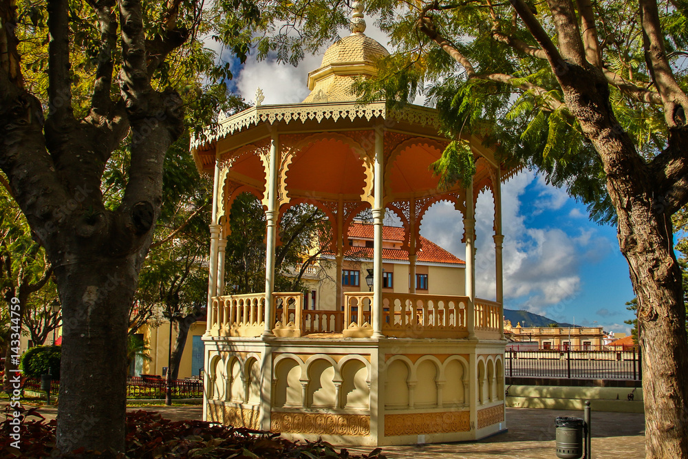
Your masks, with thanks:
[{"label": "dark lower trunk of the left tree, below its fork", "polygon": [[56,449],[111,457],[125,451],[127,311],[138,274],[133,256],[89,259],[55,270],[64,337]]}]

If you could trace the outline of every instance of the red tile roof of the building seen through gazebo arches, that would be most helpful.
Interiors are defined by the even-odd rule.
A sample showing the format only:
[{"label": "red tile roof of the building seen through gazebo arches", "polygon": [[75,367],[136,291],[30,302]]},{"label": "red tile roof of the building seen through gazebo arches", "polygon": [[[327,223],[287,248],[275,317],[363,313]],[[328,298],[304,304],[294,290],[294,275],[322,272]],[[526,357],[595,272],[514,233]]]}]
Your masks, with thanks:
[{"label": "red tile roof of the building seen through gazebo arches", "polygon": [[[373,225],[352,223],[349,227],[347,236],[350,239],[373,239]],[[383,239],[387,241],[402,242],[404,240],[404,228],[398,226],[383,226]],[[420,248],[416,255],[418,261],[431,263],[451,263],[466,264],[465,261],[455,257],[434,242],[420,236],[418,240]],[[346,255],[353,255],[358,258],[373,258],[372,247],[347,247]],[[409,251],[400,248],[383,248],[383,259],[408,261]]]}]

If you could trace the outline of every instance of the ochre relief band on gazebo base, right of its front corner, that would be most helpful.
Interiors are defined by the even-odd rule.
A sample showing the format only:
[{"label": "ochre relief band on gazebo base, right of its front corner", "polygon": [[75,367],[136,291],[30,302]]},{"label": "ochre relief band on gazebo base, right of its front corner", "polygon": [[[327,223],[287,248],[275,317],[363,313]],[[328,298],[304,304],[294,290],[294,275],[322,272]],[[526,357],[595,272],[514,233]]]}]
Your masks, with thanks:
[{"label": "ochre relief band on gazebo base, right of its front corner", "polygon": [[385,436],[467,432],[470,421],[469,412],[385,414]]}]

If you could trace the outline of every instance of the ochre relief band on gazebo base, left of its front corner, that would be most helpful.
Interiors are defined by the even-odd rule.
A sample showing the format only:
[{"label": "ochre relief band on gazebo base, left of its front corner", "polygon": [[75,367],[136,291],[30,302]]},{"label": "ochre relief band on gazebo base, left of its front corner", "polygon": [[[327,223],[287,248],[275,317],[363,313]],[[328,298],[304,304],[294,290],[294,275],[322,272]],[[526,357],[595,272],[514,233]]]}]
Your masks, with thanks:
[{"label": "ochre relief band on gazebo base, left of its front corner", "polygon": [[315,435],[370,435],[370,416],[272,412],[270,430]]}]

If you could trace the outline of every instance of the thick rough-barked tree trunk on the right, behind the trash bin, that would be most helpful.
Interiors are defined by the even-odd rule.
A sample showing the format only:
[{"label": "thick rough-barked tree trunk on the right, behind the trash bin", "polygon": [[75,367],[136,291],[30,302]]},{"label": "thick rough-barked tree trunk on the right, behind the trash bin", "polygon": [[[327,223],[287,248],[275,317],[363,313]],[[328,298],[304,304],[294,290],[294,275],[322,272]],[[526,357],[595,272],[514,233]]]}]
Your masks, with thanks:
[{"label": "thick rough-barked tree trunk on the right, behind the trash bin", "polygon": [[671,215],[656,193],[658,179],[614,117],[601,72],[572,65],[560,81],[603,163],[619,247],[638,296],[647,458],[688,458],[688,337]]}]

